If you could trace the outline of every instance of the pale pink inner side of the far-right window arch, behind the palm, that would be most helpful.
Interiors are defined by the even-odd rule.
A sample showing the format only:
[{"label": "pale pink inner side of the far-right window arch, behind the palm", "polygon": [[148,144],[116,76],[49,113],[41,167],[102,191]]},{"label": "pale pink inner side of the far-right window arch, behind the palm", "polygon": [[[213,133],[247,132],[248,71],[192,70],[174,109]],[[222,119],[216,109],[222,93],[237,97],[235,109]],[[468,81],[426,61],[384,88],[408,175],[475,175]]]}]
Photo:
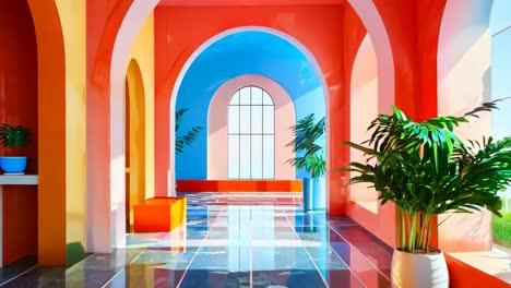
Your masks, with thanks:
[{"label": "pale pink inner side of the far-right window arch, behind the palm", "polygon": [[[491,1],[447,1],[438,40],[438,115],[463,115],[491,98]],[[460,17],[460,11],[470,15]],[[455,129],[462,140],[480,141],[491,132],[491,115]],[[438,245],[445,252],[491,249],[491,215],[440,215]]]}]

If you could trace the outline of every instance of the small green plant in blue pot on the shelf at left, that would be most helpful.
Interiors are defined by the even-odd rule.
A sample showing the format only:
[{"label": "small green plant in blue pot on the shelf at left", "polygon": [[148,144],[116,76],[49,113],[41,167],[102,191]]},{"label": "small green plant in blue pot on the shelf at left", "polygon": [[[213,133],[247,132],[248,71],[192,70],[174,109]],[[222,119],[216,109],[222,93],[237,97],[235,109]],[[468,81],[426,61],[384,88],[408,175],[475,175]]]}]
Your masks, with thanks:
[{"label": "small green plant in blue pot on the shelf at left", "polygon": [[[31,143],[31,131],[21,125],[2,123],[0,125],[0,140],[5,149],[25,147]],[[26,168],[26,156],[2,156],[0,168],[5,175],[21,175]]]}]

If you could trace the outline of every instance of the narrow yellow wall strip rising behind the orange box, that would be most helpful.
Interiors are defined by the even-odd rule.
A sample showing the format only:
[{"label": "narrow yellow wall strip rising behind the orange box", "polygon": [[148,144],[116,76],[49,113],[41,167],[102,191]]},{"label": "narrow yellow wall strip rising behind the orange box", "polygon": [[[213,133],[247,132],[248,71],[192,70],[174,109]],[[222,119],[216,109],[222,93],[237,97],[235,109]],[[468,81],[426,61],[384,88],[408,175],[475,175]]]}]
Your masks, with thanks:
[{"label": "narrow yellow wall strip rising behind the orange box", "polygon": [[131,48],[130,59],[140,67],[145,94],[145,199],[154,196],[154,14],[152,13]]}]

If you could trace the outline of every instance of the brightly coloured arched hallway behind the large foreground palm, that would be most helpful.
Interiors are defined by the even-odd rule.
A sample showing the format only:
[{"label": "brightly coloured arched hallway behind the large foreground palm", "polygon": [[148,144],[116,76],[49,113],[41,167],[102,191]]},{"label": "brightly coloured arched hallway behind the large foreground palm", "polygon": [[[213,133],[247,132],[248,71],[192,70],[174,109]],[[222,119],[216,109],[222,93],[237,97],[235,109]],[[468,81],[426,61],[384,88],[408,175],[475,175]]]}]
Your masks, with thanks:
[{"label": "brightly coloured arched hallway behind the large foreground palm", "polygon": [[[341,143],[511,96],[509,0],[0,0],[0,41],[1,287],[390,287],[402,211]],[[451,287],[511,284],[498,196],[432,217]]]}]

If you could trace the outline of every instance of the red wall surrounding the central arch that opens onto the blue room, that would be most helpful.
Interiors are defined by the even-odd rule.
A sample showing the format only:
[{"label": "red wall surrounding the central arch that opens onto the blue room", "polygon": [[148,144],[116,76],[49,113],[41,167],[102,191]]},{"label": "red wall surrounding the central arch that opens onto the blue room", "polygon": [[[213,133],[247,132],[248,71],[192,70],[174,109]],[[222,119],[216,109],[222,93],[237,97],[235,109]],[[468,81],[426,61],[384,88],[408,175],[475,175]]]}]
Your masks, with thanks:
[{"label": "red wall surrounding the central arch that opens onto the blue room", "polygon": [[[166,194],[169,170],[169,106],[174,82],[182,65],[204,41],[226,29],[263,26],[284,32],[311,51],[326,77],[330,94],[331,167],[348,160],[338,143],[349,136],[349,103],[343,84],[343,5],[318,7],[216,7],[165,8],[155,10],[155,158],[156,195]],[[344,209],[345,185],[338,175],[330,175],[332,214]]]}]

